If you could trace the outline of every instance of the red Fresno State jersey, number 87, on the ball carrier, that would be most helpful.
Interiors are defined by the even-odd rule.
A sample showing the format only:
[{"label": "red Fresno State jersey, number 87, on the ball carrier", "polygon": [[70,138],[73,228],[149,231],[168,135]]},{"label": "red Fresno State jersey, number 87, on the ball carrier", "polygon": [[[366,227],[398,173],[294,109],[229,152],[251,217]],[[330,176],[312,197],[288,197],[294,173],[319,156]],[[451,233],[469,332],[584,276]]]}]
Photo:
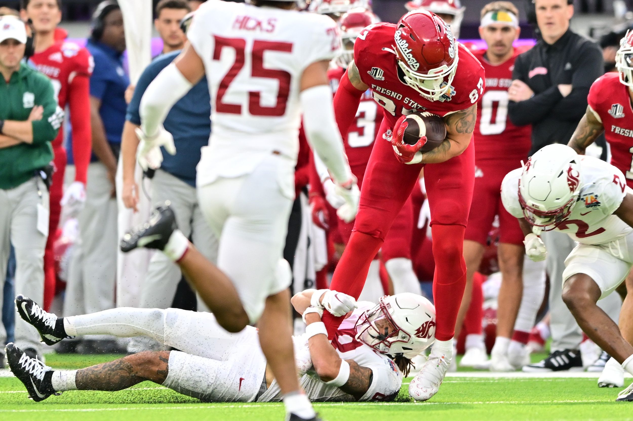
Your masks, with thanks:
[{"label": "red Fresno State jersey, number 87, on the ball carrier", "polygon": [[459,62],[453,85],[440,101],[431,101],[404,82],[394,51],[393,23],[370,25],[354,42],[354,62],[360,78],[372,88],[373,99],[384,108],[391,126],[411,109],[429,110],[441,117],[471,107],[484,93],[484,68],[458,43]]}]

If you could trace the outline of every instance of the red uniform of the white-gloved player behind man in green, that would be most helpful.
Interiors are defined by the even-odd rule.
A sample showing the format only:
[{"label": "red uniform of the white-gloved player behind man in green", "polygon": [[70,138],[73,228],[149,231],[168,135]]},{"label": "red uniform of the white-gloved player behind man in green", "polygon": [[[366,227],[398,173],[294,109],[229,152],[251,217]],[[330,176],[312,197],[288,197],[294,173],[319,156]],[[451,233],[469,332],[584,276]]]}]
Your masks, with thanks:
[{"label": "red uniform of the white-gloved player behind man in green", "polygon": [[[90,76],[94,69],[91,54],[72,42],[56,41],[53,46],[37,52],[30,58],[37,70],[48,76],[58,97],[61,109],[70,107],[73,126],[73,158],[75,181],[86,183],[90,164],[92,134],[90,125]],[[49,236],[44,255],[44,308],[48,308],[54,295],[55,274],[53,265],[53,242],[60,221],[61,198],[63,197],[66,150],[63,147],[64,130],[60,130],[53,141],[55,172],[50,192]]]}]

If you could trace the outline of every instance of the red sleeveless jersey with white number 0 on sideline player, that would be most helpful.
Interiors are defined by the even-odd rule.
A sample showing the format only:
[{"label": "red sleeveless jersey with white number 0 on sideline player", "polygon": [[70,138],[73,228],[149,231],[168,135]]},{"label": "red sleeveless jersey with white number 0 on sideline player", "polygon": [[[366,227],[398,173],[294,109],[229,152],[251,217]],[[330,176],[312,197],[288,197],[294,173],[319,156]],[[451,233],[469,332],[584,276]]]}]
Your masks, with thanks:
[{"label": "red sleeveless jersey with white number 0 on sideline player", "polygon": [[[477,102],[475,162],[527,160],[532,147],[531,126],[515,126],[508,117],[508,88],[512,83],[517,49],[513,56],[496,66],[486,59],[487,50],[473,52],[486,71],[486,89]],[[461,64],[461,58],[460,63]]]}]

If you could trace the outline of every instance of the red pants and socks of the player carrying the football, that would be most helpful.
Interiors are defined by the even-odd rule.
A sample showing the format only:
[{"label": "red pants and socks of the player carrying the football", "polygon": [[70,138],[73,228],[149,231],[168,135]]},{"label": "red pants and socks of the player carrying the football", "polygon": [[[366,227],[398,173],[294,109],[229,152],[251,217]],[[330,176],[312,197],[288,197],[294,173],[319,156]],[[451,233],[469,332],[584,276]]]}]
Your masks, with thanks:
[{"label": "red pants and socks of the player carrying the football", "polygon": [[[422,164],[407,165],[396,159],[382,135],[389,125],[383,120],[367,165],[354,231],[330,288],[358,298],[369,265],[382,245],[398,212],[418,182]],[[473,142],[460,156],[441,164],[429,164],[424,171],[431,211],[433,254],[436,260],[433,295],[436,306],[436,338],[453,338],[455,321],[466,285],[466,264],[462,257],[465,226],[472,201],[475,174]],[[329,333],[341,319],[324,314]]]}]

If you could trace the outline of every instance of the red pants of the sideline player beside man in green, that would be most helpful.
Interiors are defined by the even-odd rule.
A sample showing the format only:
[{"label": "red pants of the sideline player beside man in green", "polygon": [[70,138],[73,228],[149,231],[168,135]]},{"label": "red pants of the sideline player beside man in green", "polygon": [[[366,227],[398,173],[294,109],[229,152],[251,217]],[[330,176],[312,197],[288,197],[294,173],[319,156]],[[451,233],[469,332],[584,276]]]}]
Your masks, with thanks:
[{"label": "red pants of the sideline player beside man in green", "polygon": [[50,191],[50,215],[48,223],[48,239],[44,249],[44,310],[51,308],[55,296],[56,273],[55,255],[53,244],[57,239],[57,228],[60,224],[61,198],[64,194],[64,173],[66,172],[66,150],[63,147],[54,147],[55,172],[53,173]]}]

